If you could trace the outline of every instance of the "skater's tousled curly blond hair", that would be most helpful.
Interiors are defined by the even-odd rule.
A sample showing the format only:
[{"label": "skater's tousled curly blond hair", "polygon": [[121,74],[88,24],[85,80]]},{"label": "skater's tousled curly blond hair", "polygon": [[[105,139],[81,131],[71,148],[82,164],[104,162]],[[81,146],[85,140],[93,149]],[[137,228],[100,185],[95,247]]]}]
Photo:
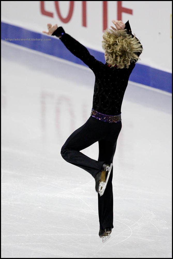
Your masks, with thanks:
[{"label": "skater's tousled curly blond hair", "polygon": [[142,52],[142,46],[136,37],[132,37],[127,30],[104,31],[102,48],[106,55],[106,62],[117,68],[128,68],[132,61],[137,62],[137,52]]}]

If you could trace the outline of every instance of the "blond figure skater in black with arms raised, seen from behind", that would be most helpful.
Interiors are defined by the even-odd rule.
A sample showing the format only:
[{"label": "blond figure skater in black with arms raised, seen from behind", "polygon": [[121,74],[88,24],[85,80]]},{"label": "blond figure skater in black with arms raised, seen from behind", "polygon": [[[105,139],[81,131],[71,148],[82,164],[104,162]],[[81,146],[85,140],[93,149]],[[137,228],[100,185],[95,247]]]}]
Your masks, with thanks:
[{"label": "blond figure skater in black with arms raised, seen from behind", "polygon": [[[65,33],[62,27],[48,24],[48,35],[58,37],[65,47],[94,73],[93,106],[86,123],[64,143],[61,155],[67,162],[89,172],[98,193],[99,236],[105,242],[113,226],[112,173],[118,135],[121,131],[121,105],[129,76],[142,53],[142,45],[132,34],[129,21],[112,20],[115,27],[103,33],[102,48],[106,63],[92,56],[87,48]],[[80,152],[99,143],[98,161]]]}]

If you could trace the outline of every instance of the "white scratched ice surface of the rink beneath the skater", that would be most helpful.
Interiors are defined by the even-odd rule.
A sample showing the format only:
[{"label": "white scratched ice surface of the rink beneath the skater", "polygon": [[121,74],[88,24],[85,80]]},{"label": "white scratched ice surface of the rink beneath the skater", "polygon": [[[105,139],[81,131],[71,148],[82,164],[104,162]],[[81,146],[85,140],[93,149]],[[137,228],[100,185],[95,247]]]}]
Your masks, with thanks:
[{"label": "white scratched ice surface of the rink beneath the skater", "polygon": [[[172,258],[172,95],[128,84],[102,243],[94,178],[60,154],[90,116],[93,72],[1,47],[1,258]],[[98,144],[82,152],[97,160]]]}]

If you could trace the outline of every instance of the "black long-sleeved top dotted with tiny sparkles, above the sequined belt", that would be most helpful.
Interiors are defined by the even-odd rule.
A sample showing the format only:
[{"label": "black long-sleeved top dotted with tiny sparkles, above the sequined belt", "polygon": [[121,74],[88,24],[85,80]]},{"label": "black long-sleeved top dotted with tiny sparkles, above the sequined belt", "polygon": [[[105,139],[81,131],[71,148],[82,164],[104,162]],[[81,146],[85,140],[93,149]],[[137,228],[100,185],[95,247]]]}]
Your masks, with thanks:
[{"label": "black long-sleeved top dotted with tiny sparkles, above the sequined belt", "polygon": [[[125,24],[125,29],[132,35],[129,21]],[[132,62],[128,69],[109,67],[107,63],[103,64],[96,60],[85,46],[65,33],[62,27],[58,27],[52,35],[57,36],[72,54],[81,59],[93,71],[95,85],[92,108],[106,115],[121,114],[124,93],[136,63]]]}]

